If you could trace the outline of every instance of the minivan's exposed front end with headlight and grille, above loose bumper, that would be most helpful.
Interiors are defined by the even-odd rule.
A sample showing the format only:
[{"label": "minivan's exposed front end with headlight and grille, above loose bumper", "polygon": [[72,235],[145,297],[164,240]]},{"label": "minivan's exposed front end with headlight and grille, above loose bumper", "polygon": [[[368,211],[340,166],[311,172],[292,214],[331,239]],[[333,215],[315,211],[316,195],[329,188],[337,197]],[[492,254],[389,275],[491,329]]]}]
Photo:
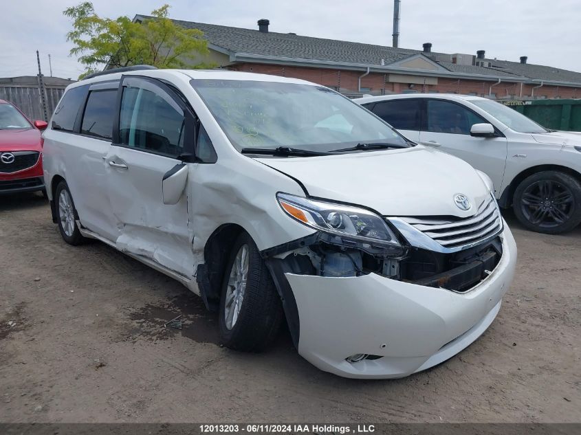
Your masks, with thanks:
[{"label": "minivan's exposed front end with headlight and grille, above loose bumper", "polygon": [[413,221],[385,218],[353,205],[287,194],[278,194],[278,202],[289,216],[318,230],[262,252],[281,293],[295,345],[298,311],[285,274],[328,278],[377,274],[465,293],[485,280],[503,256],[503,225],[494,200],[483,203],[470,219],[450,218],[447,226],[437,221],[444,228],[441,238],[453,242],[449,247],[409,223]]}]

